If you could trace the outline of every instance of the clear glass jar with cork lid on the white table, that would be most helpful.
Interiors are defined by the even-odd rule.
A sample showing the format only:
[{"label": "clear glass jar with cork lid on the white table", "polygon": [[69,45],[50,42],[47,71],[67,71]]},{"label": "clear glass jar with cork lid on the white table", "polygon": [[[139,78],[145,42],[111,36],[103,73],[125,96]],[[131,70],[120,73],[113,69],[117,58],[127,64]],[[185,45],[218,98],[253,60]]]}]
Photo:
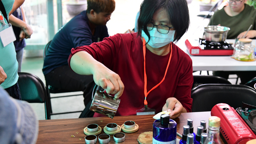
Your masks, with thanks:
[{"label": "clear glass jar with cork lid on the white table", "polygon": [[234,58],[241,61],[254,61],[255,52],[252,39],[240,38],[234,47]]}]

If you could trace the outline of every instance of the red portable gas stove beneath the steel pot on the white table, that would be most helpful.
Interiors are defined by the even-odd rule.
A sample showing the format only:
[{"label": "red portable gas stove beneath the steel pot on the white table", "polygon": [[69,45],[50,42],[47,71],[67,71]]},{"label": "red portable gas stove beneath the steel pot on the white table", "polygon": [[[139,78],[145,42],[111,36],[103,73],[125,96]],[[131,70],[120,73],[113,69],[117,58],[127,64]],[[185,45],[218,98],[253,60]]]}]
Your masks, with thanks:
[{"label": "red portable gas stove beneath the steel pot on the white table", "polygon": [[185,44],[191,55],[233,55],[234,50],[226,41],[211,42],[199,38],[199,41],[187,39]]}]

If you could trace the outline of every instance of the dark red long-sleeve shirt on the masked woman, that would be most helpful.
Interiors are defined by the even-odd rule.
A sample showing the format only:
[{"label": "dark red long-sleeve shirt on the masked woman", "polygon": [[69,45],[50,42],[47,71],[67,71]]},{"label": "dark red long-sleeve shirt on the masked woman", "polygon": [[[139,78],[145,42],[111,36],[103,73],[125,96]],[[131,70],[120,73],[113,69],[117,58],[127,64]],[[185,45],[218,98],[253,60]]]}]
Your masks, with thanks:
[{"label": "dark red long-sleeve shirt on the masked woman", "polygon": [[[116,34],[90,46],[73,48],[68,58],[79,51],[86,51],[106,67],[117,73],[124,83],[124,92],[116,116],[136,115],[144,107],[144,58],[143,44],[137,33]],[[164,77],[170,52],[159,56],[146,48],[147,91]],[[172,44],[172,59],[165,80],[148,94],[148,107],[162,111],[166,100],[175,97],[188,112],[191,112],[191,88],[193,84],[192,60],[175,44]],[[100,114],[95,113],[95,116]],[[101,115],[102,116],[102,115]]]}]

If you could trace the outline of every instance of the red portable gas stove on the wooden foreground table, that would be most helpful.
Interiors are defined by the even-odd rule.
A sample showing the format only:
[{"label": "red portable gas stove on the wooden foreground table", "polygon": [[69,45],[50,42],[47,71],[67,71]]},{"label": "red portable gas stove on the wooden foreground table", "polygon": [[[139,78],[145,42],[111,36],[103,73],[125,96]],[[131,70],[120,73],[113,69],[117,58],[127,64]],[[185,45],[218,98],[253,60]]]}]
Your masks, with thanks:
[{"label": "red portable gas stove on the wooden foreground table", "polygon": [[220,117],[220,133],[228,144],[245,144],[256,139],[256,107],[243,103],[236,110],[228,104],[215,105],[212,116]]}]

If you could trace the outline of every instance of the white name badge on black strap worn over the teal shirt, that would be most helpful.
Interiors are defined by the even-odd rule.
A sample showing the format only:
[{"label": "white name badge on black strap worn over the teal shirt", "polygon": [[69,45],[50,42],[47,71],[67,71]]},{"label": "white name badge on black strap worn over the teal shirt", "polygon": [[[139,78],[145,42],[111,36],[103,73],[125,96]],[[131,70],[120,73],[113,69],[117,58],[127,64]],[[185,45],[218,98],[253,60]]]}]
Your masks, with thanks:
[{"label": "white name badge on black strap worn over the teal shirt", "polygon": [[7,24],[4,22],[4,18],[2,14],[0,13],[0,21],[2,23],[0,27],[0,38],[3,46],[5,47],[6,45],[14,42],[16,40],[16,37],[14,35],[13,29],[12,29],[12,24],[8,24],[8,18],[7,18],[7,13],[4,8],[3,2],[0,0],[0,11],[4,15],[5,20],[7,21]]}]

